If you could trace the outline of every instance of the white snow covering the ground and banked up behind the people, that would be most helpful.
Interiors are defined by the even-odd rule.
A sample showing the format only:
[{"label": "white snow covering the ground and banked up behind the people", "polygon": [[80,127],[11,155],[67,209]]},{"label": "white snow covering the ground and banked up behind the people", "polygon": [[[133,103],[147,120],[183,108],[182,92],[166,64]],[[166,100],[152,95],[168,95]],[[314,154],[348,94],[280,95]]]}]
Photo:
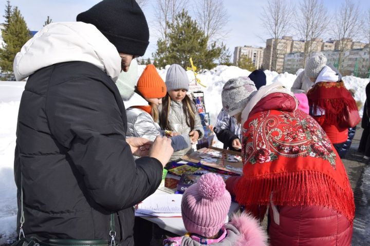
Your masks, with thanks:
[{"label": "white snow covering the ground and banked up behind the people", "polygon": [[[139,74],[145,66],[139,66]],[[159,70],[160,76],[165,79],[167,66]],[[300,71],[299,71],[300,72]],[[194,75],[188,71],[189,79]],[[295,74],[265,71],[267,84],[281,81],[287,88],[290,88]],[[217,66],[198,75],[204,89],[206,110],[210,113],[211,124],[215,124],[217,114],[221,105],[221,90],[226,81],[233,77],[248,76],[249,71],[237,67]],[[361,79],[354,76],[343,78],[347,89],[355,90],[355,99],[364,103],[365,87],[369,79]],[[13,160],[15,148],[15,130],[20,99],[24,90],[25,82],[0,81],[0,245],[9,242],[9,238],[15,237],[16,225],[16,187],[13,176]],[[362,109],[361,109],[362,114]]]}]

